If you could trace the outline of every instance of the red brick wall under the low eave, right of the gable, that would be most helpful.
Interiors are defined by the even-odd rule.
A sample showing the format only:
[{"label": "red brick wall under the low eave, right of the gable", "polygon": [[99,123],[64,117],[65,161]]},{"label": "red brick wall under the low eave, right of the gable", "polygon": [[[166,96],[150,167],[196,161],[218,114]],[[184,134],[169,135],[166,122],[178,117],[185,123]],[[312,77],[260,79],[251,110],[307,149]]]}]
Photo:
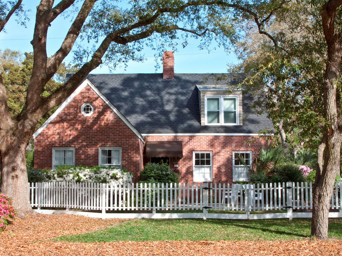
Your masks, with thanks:
[{"label": "red brick wall under the low eave, right of the gable", "polygon": [[[193,151],[212,151],[213,182],[233,182],[233,151],[252,151],[255,159],[265,138],[255,136],[147,136],[148,140],[182,140],[183,158],[171,158],[170,167],[180,174],[180,182],[192,182]],[[144,161],[150,161],[144,158]],[[178,164],[178,167],[173,167]]]}]

